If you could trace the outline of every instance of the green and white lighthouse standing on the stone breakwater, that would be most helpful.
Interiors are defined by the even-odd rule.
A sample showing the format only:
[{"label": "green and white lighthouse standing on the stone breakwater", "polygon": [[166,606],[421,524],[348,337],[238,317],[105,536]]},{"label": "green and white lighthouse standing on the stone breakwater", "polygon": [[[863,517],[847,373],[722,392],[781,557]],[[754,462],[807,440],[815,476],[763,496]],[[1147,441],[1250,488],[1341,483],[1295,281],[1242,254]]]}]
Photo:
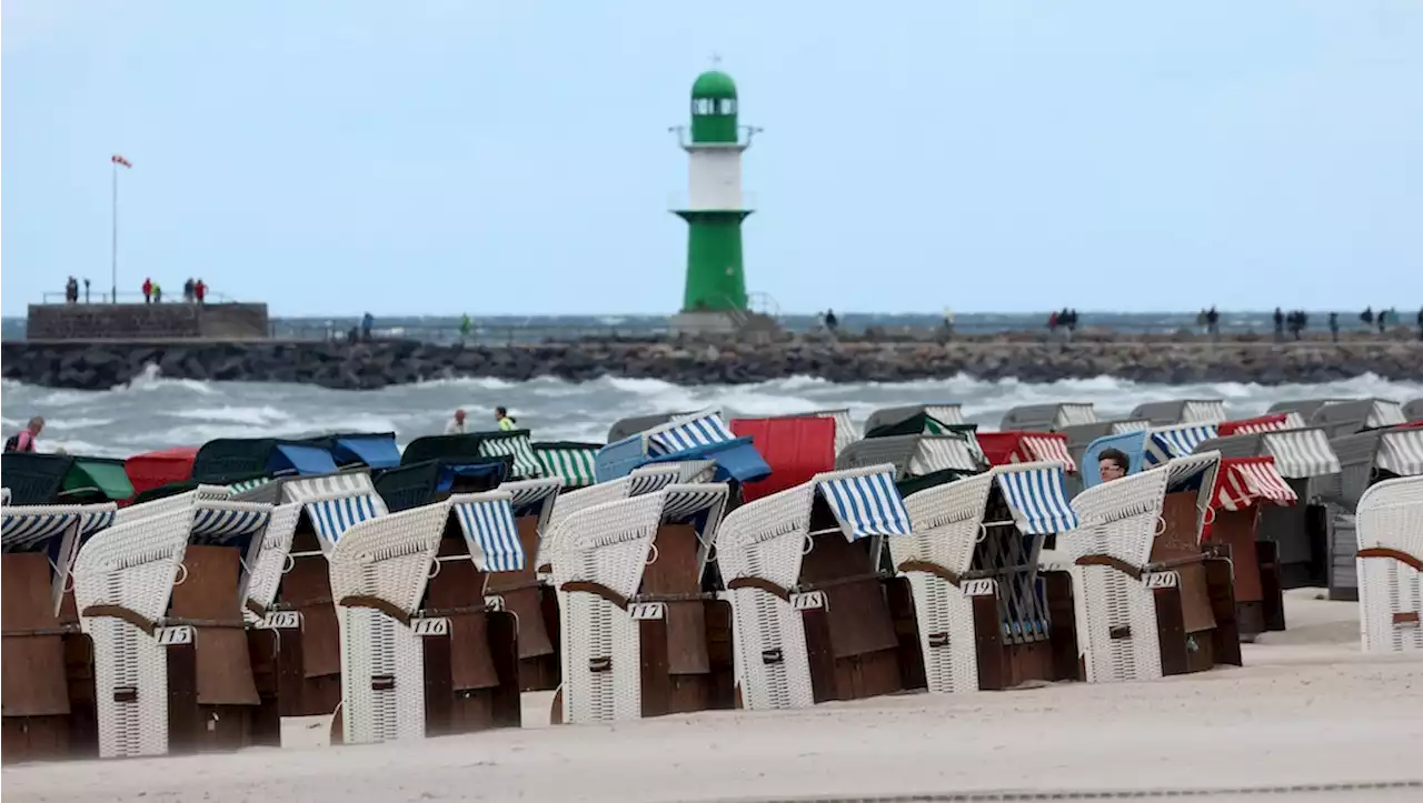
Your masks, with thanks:
[{"label": "green and white lighthouse standing on the stone breakwater", "polygon": [[741,153],[757,129],[741,126],[736,81],[720,70],[692,84],[692,125],[675,126],[687,152],[686,203],[672,212],[687,222],[687,286],[680,331],[733,331],[747,317],[741,222]]}]

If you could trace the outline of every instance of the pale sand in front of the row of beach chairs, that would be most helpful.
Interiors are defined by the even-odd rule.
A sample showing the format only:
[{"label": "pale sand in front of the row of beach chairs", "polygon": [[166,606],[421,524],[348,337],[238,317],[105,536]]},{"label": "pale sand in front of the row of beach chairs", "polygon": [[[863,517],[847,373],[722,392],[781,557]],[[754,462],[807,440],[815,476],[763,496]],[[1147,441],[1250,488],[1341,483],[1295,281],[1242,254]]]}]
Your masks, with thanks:
[{"label": "pale sand in front of the row of beach chairs", "polygon": [[[1221,789],[1423,779],[1423,661],[1359,654],[1352,603],[1289,593],[1244,668],[1144,684],[925,694],[396,745],[7,767],[0,802],[400,803],[854,799],[973,790]],[[1420,800],[1423,787],[1276,794]],[[939,797],[949,799],[949,797]],[[1022,799],[1022,797],[1019,797]],[[1210,800],[1259,800],[1212,794]]]}]

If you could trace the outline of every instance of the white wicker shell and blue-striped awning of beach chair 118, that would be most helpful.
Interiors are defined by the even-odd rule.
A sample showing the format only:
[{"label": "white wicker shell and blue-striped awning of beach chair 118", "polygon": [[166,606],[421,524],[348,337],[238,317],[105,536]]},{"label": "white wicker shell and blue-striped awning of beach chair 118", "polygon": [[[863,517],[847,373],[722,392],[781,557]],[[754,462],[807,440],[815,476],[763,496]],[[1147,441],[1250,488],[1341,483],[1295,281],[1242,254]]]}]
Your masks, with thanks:
[{"label": "white wicker shell and blue-striped awning of beach chair 118", "polygon": [[[892,465],[817,475],[727,514],[717,532],[717,566],[736,621],[737,679],[748,709],[814,705],[801,610],[822,607],[824,591],[798,593],[811,543],[811,509],[824,496],[847,540],[908,536],[909,514]],[[877,561],[872,561],[877,563]]]}]

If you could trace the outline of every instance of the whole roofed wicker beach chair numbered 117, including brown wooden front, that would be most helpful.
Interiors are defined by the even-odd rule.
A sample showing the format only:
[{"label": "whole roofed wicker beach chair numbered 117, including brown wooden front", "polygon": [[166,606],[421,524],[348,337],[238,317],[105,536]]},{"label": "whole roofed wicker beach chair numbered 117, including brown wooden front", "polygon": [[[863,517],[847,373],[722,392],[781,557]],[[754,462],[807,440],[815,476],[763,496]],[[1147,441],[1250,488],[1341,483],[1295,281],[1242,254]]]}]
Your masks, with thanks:
[{"label": "whole roofed wicker beach chair numbered 117, including brown wooden front", "polygon": [[733,706],[730,607],[703,590],[727,493],[724,483],[673,483],[559,523],[555,722]]}]

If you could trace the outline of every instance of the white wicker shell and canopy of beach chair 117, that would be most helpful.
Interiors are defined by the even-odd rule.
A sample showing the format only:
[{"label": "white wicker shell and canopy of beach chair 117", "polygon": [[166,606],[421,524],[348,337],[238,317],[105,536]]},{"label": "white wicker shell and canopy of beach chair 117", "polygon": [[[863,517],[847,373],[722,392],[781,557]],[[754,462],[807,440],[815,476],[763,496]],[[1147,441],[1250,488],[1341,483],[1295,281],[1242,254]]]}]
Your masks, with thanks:
[{"label": "white wicker shell and canopy of beach chair 117", "polygon": [[[696,522],[696,576],[706,570],[729,489],[675,483],[662,490],[585,507],[559,524],[554,563],[564,642],[564,722],[615,722],[643,706],[640,623],[666,624],[669,600],[640,595],[643,570],[657,560],[663,523]],[[652,712],[652,713],[660,713]]]}]

